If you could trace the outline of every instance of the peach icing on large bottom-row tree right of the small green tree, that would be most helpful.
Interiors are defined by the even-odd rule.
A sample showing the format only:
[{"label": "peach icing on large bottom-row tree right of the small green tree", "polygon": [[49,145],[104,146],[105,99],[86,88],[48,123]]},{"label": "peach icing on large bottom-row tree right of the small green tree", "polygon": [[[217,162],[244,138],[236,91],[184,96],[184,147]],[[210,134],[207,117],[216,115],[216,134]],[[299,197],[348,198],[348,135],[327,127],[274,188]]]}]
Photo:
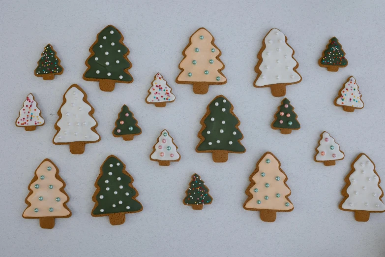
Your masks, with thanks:
[{"label": "peach icing on large bottom-row tree right of the small green tree", "polygon": [[281,172],[278,160],[271,154],[266,154],[258,163],[258,172],[252,177],[255,183],[249,190],[252,198],[244,207],[281,211],[293,209],[293,204],[286,198],[291,191],[285,180],[286,176]]}]

